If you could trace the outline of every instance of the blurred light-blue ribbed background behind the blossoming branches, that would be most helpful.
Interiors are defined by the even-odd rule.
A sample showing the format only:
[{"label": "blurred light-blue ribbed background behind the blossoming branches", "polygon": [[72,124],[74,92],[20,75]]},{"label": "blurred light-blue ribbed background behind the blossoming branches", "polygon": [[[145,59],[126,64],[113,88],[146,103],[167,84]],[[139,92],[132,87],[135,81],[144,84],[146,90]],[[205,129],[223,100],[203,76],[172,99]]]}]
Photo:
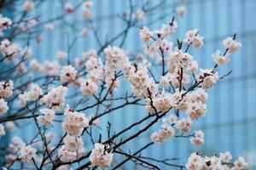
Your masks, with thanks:
[{"label": "blurred light-blue ribbed background behind the blossoming branches", "polygon": [[[62,9],[60,2],[58,0],[43,1],[40,8],[32,15],[38,15],[39,20],[43,22],[58,17]],[[77,1],[68,2],[75,4]],[[127,12],[129,7],[127,0],[93,0],[92,2],[94,3],[92,20],[100,39],[110,39],[125,29],[124,21],[118,15]],[[143,0],[133,2],[137,4],[136,8],[143,4]],[[154,6],[160,3],[160,0],[149,2]],[[160,8],[145,16],[141,26],[149,24],[148,27],[151,30],[159,28],[162,23],[167,23],[172,19],[175,8],[180,4],[178,0],[166,0]],[[201,36],[205,37],[205,45],[201,49],[190,48],[189,53],[199,60],[201,68],[212,67],[212,54],[217,49],[224,51],[222,41],[225,37],[232,36],[233,33],[237,34],[237,40],[242,43],[242,48],[232,56],[228,65],[220,68],[220,75],[230,70],[233,72],[209,90],[207,116],[193,124],[193,130],[201,129],[205,133],[205,144],[195,146],[190,144],[189,139],[168,139],[165,143],[157,144],[144,151],[143,156],[152,156],[157,159],[180,158],[174,162],[184,163],[195,151],[212,155],[230,150],[234,158],[239,155],[247,157],[254,166],[252,169],[255,169],[256,165],[253,160],[256,160],[256,24],[254,21],[256,1],[188,0],[183,5],[187,13],[184,17],[176,17],[179,28],[173,40],[183,39],[186,31],[198,28]],[[41,62],[45,59],[54,59],[59,50],[67,51],[68,44],[79,35],[79,30],[88,25],[82,19],[79,10],[63,20],[56,20],[53,24],[55,25],[54,31],[38,32],[36,37],[44,37],[40,45],[32,42],[32,57]],[[143,44],[139,40],[139,27],[132,28],[126,38],[123,47],[125,50],[133,54],[143,53]],[[24,40],[20,38],[19,41]],[[119,45],[120,41],[118,39],[112,45]],[[92,33],[89,33],[87,37],[79,37],[70,54],[72,57],[81,57],[88,48],[99,48]],[[130,86],[126,82],[121,82],[121,89],[115,93],[123,94],[124,90],[130,90]],[[90,114],[93,114],[93,110]],[[143,106],[125,107],[101,119],[102,127],[106,127],[109,121],[113,122],[113,127],[119,131],[145,114]],[[124,150],[137,150],[147,144],[150,141],[150,134],[159,127],[160,123],[150,128],[148,133],[144,133],[126,145]],[[138,129],[139,127],[134,128],[133,132]],[[32,132],[32,128],[27,126],[26,132]],[[61,130],[60,133],[62,133]],[[26,135],[30,136],[31,133],[22,133],[24,138]],[[86,147],[86,141],[84,143]]]}]

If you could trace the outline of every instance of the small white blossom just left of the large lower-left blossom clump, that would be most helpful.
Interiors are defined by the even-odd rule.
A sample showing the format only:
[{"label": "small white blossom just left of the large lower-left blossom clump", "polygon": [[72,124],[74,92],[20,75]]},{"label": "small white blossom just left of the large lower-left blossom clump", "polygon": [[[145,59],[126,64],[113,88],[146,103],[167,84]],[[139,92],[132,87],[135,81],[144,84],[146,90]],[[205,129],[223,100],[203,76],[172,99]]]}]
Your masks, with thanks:
[{"label": "small white blossom just left of the large lower-left blossom clump", "polygon": [[43,115],[37,117],[38,121],[43,123],[45,126],[51,125],[55,118],[55,111],[51,109],[40,109],[39,112]]}]

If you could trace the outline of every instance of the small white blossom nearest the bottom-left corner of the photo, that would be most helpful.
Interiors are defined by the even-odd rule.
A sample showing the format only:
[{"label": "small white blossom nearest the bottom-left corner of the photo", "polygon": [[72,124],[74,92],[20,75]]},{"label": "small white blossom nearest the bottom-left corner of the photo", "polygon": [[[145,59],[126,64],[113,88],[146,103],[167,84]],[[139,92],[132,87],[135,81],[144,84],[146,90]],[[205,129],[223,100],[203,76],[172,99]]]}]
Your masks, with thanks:
[{"label": "small white blossom nearest the bottom-left corner of the photo", "polygon": [[23,162],[31,161],[32,159],[35,159],[37,156],[37,150],[32,148],[31,145],[22,146],[20,148],[20,156],[19,158]]}]

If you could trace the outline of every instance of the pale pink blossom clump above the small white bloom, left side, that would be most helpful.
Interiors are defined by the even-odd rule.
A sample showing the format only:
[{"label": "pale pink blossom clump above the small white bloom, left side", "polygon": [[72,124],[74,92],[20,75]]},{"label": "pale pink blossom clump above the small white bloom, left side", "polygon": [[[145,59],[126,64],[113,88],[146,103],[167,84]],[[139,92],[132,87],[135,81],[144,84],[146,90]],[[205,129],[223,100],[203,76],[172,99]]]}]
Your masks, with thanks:
[{"label": "pale pink blossom clump above the small white bloom, left side", "polygon": [[60,109],[65,105],[65,96],[67,94],[67,87],[58,86],[51,88],[48,94],[44,95],[41,102],[52,109]]}]

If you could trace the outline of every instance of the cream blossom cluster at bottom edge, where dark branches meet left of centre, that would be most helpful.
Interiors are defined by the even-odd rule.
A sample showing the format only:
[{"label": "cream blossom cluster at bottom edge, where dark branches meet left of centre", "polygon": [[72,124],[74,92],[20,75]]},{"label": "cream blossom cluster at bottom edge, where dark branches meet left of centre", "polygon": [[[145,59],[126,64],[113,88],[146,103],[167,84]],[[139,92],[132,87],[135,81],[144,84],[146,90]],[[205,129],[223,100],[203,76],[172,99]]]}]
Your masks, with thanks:
[{"label": "cream blossom cluster at bottom edge, where dark branches meet left of centre", "polygon": [[96,143],[90,153],[91,164],[102,168],[108,167],[113,161],[113,154],[108,149],[108,145]]}]

